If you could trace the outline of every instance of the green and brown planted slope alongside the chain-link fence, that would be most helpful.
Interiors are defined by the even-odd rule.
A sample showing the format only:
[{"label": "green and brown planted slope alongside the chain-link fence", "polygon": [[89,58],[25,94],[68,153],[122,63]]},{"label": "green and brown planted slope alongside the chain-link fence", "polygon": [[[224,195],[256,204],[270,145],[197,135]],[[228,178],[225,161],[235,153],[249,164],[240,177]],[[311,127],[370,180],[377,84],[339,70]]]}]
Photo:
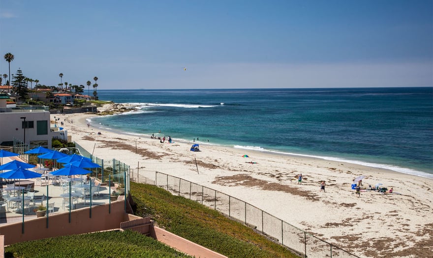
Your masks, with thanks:
[{"label": "green and brown planted slope alongside the chain-link fence", "polygon": [[298,257],[253,229],[195,201],[152,185],[131,182],[135,214],[228,257]]}]

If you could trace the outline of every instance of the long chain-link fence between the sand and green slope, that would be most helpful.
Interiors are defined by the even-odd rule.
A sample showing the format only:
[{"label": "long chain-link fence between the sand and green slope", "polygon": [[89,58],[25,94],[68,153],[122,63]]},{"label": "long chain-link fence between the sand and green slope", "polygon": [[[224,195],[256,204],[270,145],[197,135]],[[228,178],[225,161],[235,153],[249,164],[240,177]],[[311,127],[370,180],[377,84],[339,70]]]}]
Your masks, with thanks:
[{"label": "long chain-link fence between the sand and green slope", "polygon": [[181,195],[220,211],[303,257],[359,258],[243,200],[211,188],[157,171],[155,180],[139,176],[138,171],[135,170],[134,173],[134,169],[130,169],[129,177],[133,182],[156,185],[172,194]]}]

